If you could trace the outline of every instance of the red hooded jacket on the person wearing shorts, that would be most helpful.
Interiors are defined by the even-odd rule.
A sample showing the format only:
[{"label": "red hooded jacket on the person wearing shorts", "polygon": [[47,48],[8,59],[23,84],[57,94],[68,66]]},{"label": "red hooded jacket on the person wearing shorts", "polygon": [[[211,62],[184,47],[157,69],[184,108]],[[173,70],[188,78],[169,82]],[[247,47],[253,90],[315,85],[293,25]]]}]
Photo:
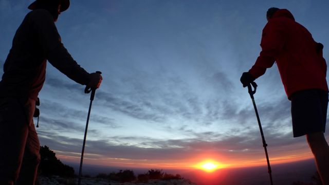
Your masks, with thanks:
[{"label": "red hooded jacket on the person wearing shorts", "polygon": [[328,91],[322,48],[288,10],[280,9],[269,19],[263,29],[261,47],[249,70],[254,78],[262,76],[276,61],[288,99],[298,90]]}]

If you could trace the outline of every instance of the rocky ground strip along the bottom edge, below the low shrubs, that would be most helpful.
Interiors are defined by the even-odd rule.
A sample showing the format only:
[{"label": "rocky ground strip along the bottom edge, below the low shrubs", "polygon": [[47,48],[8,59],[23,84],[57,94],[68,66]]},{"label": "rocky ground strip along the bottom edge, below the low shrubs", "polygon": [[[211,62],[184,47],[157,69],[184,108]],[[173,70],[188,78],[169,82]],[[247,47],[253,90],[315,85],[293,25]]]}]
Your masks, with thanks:
[{"label": "rocky ground strip along the bottom edge, below the low shrubs", "polygon": [[[40,185],[75,185],[78,184],[77,178],[67,179],[62,177],[39,177]],[[149,180],[148,182],[125,182],[120,183],[116,181],[108,181],[105,179],[96,179],[96,178],[83,178],[81,180],[81,185],[196,185],[188,179],[179,179],[179,180]]]}]

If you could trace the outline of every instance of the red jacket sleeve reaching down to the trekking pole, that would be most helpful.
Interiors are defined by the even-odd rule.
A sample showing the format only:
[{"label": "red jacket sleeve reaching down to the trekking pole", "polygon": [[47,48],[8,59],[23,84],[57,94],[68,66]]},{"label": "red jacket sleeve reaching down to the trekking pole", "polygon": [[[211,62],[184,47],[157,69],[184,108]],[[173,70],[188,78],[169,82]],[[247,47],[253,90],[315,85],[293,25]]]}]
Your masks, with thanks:
[{"label": "red jacket sleeve reaching down to the trekking pole", "polygon": [[254,78],[264,75],[267,68],[273,66],[284,46],[284,26],[280,20],[271,20],[263,29],[259,57],[249,70]]}]

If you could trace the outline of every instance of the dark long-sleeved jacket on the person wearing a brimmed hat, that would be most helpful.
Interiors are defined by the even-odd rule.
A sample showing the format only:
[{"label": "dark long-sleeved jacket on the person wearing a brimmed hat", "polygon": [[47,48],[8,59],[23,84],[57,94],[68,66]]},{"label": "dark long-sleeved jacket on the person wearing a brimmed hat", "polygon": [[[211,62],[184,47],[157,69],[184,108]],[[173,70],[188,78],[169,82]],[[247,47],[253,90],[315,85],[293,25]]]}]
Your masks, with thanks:
[{"label": "dark long-sleeved jacket on the person wearing a brimmed hat", "polygon": [[36,100],[45,81],[47,60],[77,83],[89,82],[89,73],[72,59],[62,44],[52,15],[44,9],[33,10],[15,33],[4,64],[0,97]]}]

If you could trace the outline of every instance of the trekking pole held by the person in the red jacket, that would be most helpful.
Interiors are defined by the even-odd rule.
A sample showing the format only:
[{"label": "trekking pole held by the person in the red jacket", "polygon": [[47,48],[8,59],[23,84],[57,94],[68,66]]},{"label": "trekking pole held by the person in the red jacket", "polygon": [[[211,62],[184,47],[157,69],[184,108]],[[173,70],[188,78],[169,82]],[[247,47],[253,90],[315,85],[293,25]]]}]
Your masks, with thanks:
[{"label": "trekking pole held by the person in the red jacket", "polygon": [[[254,88],[254,90],[252,90],[251,85]],[[256,117],[257,117],[257,121],[258,121],[258,125],[259,125],[259,130],[261,131],[263,146],[264,146],[265,155],[266,155],[267,167],[268,167],[268,174],[269,174],[271,185],[273,185],[273,181],[272,181],[272,170],[271,170],[271,166],[269,164],[269,159],[268,159],[268,154],[267,154],[267,148],[266,148],[267,144],[265,142],[265,137],[264,137],[264,134],[263,134],[261,120],[259,119],[259,115],[258,115],[256,103],[255,103],[255,100],[253,98],[253,95],[256,93],[257,84],[255,82],[251,82],[251,85],[250,84],[248,85],[248,93],[250,95],[250,98],[252,100],[253,107],[255,109],[255,113],[256,113]]]}]

